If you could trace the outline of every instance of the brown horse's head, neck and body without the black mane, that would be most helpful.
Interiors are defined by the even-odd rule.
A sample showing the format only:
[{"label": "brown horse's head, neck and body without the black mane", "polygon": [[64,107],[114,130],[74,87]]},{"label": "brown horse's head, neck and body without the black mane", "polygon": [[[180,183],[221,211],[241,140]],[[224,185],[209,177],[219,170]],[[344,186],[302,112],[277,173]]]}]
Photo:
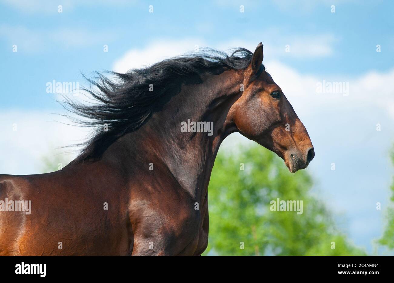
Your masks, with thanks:
[{"label": "brown horse's head, neck and body without the black mane", "polygon": [[[30,215],[0,212],[0,255],[200,255],[208,244],[210,174],[229,134],[271,149],[292,172],[314,155],[290,103],[261,72],[262,59],[259,45],[242,70],[191,75],[99,159],[79,158],[47,174],[0,175],[0,199],[32,201]],[[213,134],[181,132],[188,119],[212,121]]]}]

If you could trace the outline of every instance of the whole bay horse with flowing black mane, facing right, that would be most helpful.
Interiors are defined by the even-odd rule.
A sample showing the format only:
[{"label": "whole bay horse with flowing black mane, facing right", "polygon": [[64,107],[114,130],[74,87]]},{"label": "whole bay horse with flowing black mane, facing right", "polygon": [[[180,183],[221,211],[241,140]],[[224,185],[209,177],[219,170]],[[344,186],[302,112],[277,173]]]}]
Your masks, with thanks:
[{"label": "whole bay horse with flowing black mane, facing right", "polygon": [[[56,172],[0,175],[0,255],[201,255],[208,182],[229,134],[275,152],[292,173],[314,157],[262,61],[260,43],[89,78],[96,104],[64,101],[97,129],[80,155]],[[6,198],[31,201],[31,213],[4,209]]]}]

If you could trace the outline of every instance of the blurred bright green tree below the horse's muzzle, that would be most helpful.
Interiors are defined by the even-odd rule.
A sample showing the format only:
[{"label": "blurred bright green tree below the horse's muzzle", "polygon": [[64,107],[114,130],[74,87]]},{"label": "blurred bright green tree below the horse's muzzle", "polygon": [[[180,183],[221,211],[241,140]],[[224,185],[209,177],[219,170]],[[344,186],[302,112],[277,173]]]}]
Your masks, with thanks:
[{"label": "blurred bright green tree below the horse's muzzle", "polygon": [[[305,170],[290,173],[260,146],[237,154],[219,152],[208,188],[210,231],[204,255],[365,255],[335,229],[311,188]],[[302,200],[303,213],[271,211],[270,201],[277,198]]]}]

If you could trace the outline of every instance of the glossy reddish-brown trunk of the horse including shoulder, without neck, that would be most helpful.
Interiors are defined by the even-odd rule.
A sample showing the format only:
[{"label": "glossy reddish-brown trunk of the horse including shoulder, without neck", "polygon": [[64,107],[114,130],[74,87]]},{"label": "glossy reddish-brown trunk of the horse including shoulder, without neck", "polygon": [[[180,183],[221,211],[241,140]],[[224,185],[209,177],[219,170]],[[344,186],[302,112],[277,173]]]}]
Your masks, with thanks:
[{"label": "glossy reddish-brown trunk of the horse including shoulder, without neck", "polygon": [[[145,164],[146,171],[134,172],[139,179],[132,181],[135,175],[127,170],[98,163],[2,175],[2,199],[31,200],[33,215],[0,214],[1,255],[176,255],[193,240],[188,254],[194,253],[200,210],[190,209],[193,200],[174,178],[158,180]],[[162,166],[155,167],[161,174]]]}]

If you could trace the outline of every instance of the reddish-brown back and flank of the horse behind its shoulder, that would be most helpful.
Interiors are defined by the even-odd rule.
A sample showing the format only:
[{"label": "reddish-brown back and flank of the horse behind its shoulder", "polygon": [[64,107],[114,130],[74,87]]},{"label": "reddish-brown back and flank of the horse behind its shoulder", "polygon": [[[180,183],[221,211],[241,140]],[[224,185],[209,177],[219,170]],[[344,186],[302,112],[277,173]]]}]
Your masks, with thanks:
[{"label": "reddish-brown back and flank of the horse behind its shoulder", "polygon": [[[95,164],[95,170],[98,165]],[[93,168],[77,166],[48,174],[1,176],[2,197],[32,201],[30,215],[23,212],[0,214],[0,251],[3,255],[126,253],[130,237],[128,231],[120,229],[121,225],[127,227],[121,214],[126,204],[119,201],[125,196],[123,190],[115,192],[113,180],[105,176],[104,171],[92,170],[86,174],[80,169]],[[111,213],[106,214],[108,211],[102,209],[102,199],[114,205]]]}]

